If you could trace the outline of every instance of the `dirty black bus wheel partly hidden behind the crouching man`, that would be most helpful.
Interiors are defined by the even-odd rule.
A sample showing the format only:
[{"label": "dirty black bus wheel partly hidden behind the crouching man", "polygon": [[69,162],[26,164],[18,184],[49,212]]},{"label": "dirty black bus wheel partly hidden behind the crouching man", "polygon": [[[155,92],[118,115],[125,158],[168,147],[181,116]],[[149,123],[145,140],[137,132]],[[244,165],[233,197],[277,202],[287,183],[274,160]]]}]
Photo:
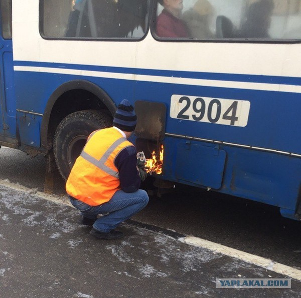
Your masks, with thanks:
[{"label": "dirty black bus wheel partly hidden behind the crouching man", "polygon": [[53,149],[56,164],[65,180],[90,133],[111,125],[112,117],[96,110],[78,111],[69,114],[60,122],[55,131]]}]

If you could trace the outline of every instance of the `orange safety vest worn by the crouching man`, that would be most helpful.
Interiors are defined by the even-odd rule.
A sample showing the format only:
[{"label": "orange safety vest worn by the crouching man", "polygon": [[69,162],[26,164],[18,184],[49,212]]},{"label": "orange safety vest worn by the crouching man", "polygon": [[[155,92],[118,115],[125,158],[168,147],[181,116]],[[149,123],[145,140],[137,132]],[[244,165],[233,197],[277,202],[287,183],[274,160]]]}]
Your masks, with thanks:
[{"label": "orange safety vest worn by the crouching man", "polygon": [[90,206],[109,201],[120,189],[114,160],[129,146],[133,144],[113,127],[94,131],[71,170],[66,183],[67,193]]}]

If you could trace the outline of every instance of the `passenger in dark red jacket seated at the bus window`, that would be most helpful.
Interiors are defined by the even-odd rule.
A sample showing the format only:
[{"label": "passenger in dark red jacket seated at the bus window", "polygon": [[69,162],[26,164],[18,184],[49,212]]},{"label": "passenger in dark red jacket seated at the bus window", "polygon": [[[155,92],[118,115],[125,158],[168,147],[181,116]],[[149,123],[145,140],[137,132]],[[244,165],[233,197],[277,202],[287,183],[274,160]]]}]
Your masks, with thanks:
[{"label": "passenger in dark red jacket seated at the bus window", "polygon": [[158,37],[185,38],[189,37],[188,28],[181,20],[183,0],[158,0],[164,7],[156,20]]}]

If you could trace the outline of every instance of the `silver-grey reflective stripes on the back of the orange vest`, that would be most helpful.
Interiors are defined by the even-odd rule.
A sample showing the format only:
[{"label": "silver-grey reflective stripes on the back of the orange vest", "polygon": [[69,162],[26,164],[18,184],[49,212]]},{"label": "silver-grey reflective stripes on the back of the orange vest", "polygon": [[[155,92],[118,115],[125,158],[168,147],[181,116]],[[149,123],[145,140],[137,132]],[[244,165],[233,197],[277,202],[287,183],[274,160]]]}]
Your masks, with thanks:
[{"label": "silver-grey reflective stripes on the back of the orange vest", "polygon": [[94,166],[96,166],[97,168],[101,169],[102,171],[104,171],[105,173],[114,176],[116,178],[119,177],[119,173],[118,171],[114,171],[113,169],[109,168],[107,165],[105,165],[105,162],[107,161],[107,159],[110,157],[110,155],[112,154],[112,152],[120,145],[122,144],[124,141],[126,141],[125,138],[120,138],[118,140],[116,140],[108,149],[107,151],[105,151],[105,153],[102,155],[102,157],[100,158],[100,160],[97,160],[96,158],[94,158],[93,156],[89,155],[88,153],[84,152],[84,150],[81,153],[81,157],[84,158],[85,160],[87,160],[88,162],[90,162],[91,164],[93,164]]}]

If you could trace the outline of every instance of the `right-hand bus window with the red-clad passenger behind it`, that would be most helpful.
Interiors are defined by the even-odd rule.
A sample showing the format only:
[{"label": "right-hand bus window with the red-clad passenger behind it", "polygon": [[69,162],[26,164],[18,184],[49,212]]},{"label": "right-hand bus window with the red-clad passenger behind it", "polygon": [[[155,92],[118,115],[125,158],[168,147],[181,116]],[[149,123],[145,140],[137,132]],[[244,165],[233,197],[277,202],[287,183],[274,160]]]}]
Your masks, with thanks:
[{"label": "right-hand bus window with the red-clad passenger behind it", "polygon": [[187,40],[301,39],[301,1],[158,0],[155,35]]}]

